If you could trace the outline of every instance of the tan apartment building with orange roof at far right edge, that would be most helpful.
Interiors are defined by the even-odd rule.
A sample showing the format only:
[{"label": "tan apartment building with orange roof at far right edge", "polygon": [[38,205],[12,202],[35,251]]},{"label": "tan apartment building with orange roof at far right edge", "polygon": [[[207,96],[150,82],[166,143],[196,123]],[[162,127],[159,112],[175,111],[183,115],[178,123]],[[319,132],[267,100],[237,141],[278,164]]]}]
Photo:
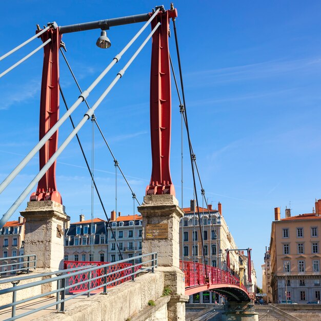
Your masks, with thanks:
[{"label": "tan apartment building with orange roof at far right edge", "polygon": [[273,303],[290,299],[295,303],[320,300],[321,199],[312,213],[291,216],[274,209],[270,259]]}]

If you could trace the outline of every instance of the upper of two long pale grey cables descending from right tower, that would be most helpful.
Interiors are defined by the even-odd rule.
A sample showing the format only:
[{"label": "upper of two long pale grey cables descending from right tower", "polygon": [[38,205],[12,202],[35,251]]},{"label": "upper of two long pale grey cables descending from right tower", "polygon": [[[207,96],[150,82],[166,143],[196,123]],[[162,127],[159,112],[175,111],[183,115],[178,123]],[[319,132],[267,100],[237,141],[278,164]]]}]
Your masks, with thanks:
[{"label": "upper of two long pale grey cables descending from right tower", "polygon": [[[138,36],[146,29],[152,19],[156,16],[159,9],[157,9],[154,14],[150,17],[150,19],[145,23],[145,25],[135,34],[135,36],[131,39],[131,41],[123,48],[121,52],[119,52],[112,60],[112,62],[105,68],[105,70],[95,79],[95,81],[85,90],[81,95],[79,95],[77,101],[69,108],[69,110],[54,124],[51,129],[44,135],[44,137],[33,147],[33,149],[28,153],[28,155],[14,168],[14,170],[4,179],[4,181],[0,184],[0,194],[4,191],[4,189],[12,182],[12,180],[22,171],[22,169],[28,164],[30,159],[41,149],[48,139],[56,132],[56,130],[66,121],[66,119],[71,115],[71,113],[89,96],[90,92],[97,86],[97,84],[102,80],[102,78],[109,72],[109,70],[119,62],[122,58],[122,55],[129,49],[129,47],[134,43],[134,41],[138,38]],[[158,28],[155,27],[155,28]],[[155,29],[156,30],[156,29]],[[155,31],[153,31],[155,32]],[[150,34],[149,38],[153,33]],[[148,38],[148,39],[149,39]],[[145,46],[145,42],[143,43],[143,47]],[[132,60],[127,63],[123,70],[119,72],[120,77],[128,68],[128,66],[132,63],[133,59],[135,59],[136,55],[142,50],[142,46],[135,52],[132,56]],[[106,90],[107,91],[107,90]],[[101,97],[105,97],[107,93],[105,93]],[[100,104],[101,102],[99,102]],[[0,220],[0,226],[2,220]]]}]

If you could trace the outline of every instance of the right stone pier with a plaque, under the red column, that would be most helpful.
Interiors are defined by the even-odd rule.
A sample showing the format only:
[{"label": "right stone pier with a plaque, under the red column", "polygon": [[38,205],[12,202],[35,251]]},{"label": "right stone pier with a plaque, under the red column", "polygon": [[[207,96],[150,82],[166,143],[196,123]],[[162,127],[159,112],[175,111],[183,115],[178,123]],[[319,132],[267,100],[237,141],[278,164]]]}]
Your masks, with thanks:
[{"label": "right stone pier with a plaque, under the red column", "polygon": [[[168,320],[185,320],[185,275],[179,269],[179,221],[184,212],[173,195],[147,195],[138,211],[143,215],[142,254],[157,252],[157,271],[171,290]],[[144,261],[143,261],[144,263]]]}]

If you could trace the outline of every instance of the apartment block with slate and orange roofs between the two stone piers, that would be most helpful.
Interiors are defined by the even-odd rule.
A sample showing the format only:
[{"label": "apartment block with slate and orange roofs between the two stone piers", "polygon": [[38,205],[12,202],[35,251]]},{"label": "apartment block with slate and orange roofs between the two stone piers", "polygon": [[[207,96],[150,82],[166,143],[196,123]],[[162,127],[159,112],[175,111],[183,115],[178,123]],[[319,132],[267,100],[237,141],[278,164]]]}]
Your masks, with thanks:
[{"label": "apartment block with slate and orange roofs between the two stone piers", "polygon": [[[142,253],[142,216],[116,217],[111,212],[110,223],[123,259]],[[71,223],[65,235],[65,260],[115,262],[122,259],[107,220],[94,218]]]}]

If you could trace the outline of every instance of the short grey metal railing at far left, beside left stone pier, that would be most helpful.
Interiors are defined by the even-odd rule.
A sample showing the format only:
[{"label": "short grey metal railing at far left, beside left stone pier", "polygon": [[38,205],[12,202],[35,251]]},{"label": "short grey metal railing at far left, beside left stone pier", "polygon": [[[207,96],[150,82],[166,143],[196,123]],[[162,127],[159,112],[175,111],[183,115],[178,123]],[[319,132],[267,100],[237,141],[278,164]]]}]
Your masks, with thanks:
[{"label": "short grey metal railing at far left, beside left stone pier", "polygon": [[[19,256],[9,256],[0,258],[1,262],[7,262],[10,260],[11,263],[5,263],[0,265],[0,274],[16,274],[16,272],[30,272],[30,269],[35,269],[37,265],[37,256],[36,254],[31,255],[19,255]],[[15,261],[16,262],[13,262]],[[13,266],[17,268],[12,269]],[[8,269],[9,268],[9,269]]]}]

